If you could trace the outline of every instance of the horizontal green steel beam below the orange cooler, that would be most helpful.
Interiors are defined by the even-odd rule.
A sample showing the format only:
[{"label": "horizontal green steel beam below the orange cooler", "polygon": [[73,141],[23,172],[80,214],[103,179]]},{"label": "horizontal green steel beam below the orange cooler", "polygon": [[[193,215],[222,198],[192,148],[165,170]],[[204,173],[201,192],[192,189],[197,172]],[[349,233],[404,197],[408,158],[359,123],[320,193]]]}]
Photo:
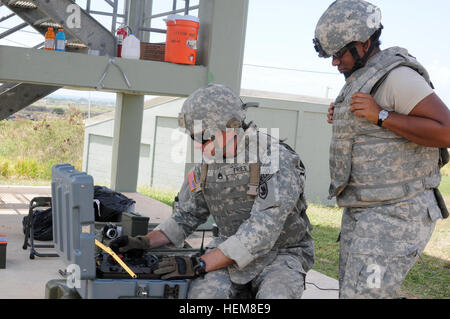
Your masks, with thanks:
[{"label": "horizontal green steel beam below the orange cooler", "polygon": [[[188,96],[208,83],[204,66],[131,60],[114,60],[121,71],[110,65],[102,91],[143,95]],[[0,82],[24,82],[65,88],[95,90],[109,58],[81,53],[54,52],[0,46]]]}]

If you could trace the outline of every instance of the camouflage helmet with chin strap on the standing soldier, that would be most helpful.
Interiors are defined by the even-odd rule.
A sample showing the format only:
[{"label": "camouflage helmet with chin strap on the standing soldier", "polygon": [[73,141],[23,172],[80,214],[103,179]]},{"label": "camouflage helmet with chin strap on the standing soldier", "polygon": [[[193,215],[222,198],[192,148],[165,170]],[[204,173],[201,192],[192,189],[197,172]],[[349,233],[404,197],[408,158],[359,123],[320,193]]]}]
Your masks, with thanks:
[{"label": "camouflage helmet with chin strap on the standing soldier", "polygon": [[363,0],[337,0],[320,17],[314,47],[328,58],[351,42],[365,42],[381,25],[380,9]]}]

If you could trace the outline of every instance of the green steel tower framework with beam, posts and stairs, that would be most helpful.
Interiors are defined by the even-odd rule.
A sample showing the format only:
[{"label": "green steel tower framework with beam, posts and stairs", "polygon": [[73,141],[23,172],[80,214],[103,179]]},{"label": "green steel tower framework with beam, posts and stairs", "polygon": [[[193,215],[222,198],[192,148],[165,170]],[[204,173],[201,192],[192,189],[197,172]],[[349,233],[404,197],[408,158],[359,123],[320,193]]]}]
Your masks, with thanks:
[{"label": "green steel tower framework with beam, posts and stairs", "polygon": [[[67,46],[68,52],[61,53],[0,45],[0,82],[6,82],[0,86],[0,119],[61,87],[117,93],[111,188],[134,192],[144,96],[188,96],[211,82],[227,85],[239,93],[249,0],[173,0],[169,11],[158,13],[153,10],[158,0],[84,1],[78,0],[75,5],[73,0],[0,0],[0,5],[10,10],[0,18],[0,23],[15,16],[25,22],[14,26],[10,23],[0,33],[0,39],[25,32],[25,26],[37,31],[33,33],[44,35],[53,24],[64,27],[68,44],[84,46],[80,50]],[[162,1],[167,4],[167,0]],[[198,5],[193,5],[193,1]],[[179,6],[179,2],[184,3]],[[105,9],[94,9],[94,4],[99,3]],[[69,7],[79,12],[83,27],[68,23]],[[198,13],[193,12],[196,10]],[[151,33],[166,32],[154,27],[152,21],[170,14],[198,16],[196,65],[115,58],[114,33],[118,25],[129,25],[141,41],[151,42]],[[110,17],[111,25],[100,23],[102,16]],[[98,51],[98,56],[79,54],[87,53],[88,48]],[[109,68],[110,65],[117,68]]]}]

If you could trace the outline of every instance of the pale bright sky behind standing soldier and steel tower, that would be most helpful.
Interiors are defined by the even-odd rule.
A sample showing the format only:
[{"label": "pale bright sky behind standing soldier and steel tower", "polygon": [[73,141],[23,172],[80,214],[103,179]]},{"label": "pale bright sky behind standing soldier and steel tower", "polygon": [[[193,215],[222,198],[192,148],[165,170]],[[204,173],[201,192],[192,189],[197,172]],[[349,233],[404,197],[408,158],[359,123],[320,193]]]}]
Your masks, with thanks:
[{"label": "pale bright sky behind standing soldier and steel tower", "polygon": [[[83,0],[77,2],[83,4]],[[103,3],[92,2],[100,3],[100,7]],[[170,9],[171,3],[154,0],[154,10]],[[182,5],[183,1],[179,3]],[[312,45],[316,23],[331,3],[328,0],[250,0],[242,88],[334,98],[344,83],[343,76],[331,66],[330,59],[318,58]],[[407,48],[428,69],[436,93],[450,106],[450,1],[373,0],[371,3],[382,12],[382,49]],[[4,10],[0,8],[0,16]],[[162,22],[159,23],[154,26],[161,27]],[[26,32],[7,39],[0,40],[0,44],[19,45],[20,42],[32,46],[42,41],[39,35]],[[67,92],[72,91],[60,90],[56,95]],[[87,96],[84,92],[74,94]],[[92,92],[92,96],[114,98],[110,93]]]}]

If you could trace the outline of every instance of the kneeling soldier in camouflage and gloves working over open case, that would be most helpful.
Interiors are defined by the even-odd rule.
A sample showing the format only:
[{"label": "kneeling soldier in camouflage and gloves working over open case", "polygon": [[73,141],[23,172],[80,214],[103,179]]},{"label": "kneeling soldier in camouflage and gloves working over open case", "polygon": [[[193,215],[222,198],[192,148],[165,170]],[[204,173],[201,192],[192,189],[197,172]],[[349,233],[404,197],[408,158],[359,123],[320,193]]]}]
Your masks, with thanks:
[{"label": "kneeling soldier in camouflage and gloves working over open case", "polygon": [[301,298],[314,263],[304,166],[289,146],[244,122],[247,107],[223,85],[192,93],[179,124],[203,162],[187,175],[169,219],[146,236],[111,243],[120,252],[180,246],[211,214],[219,235],[206,253],[163,260],[155,271],[163,279],[198,277],[188,298]]}]

